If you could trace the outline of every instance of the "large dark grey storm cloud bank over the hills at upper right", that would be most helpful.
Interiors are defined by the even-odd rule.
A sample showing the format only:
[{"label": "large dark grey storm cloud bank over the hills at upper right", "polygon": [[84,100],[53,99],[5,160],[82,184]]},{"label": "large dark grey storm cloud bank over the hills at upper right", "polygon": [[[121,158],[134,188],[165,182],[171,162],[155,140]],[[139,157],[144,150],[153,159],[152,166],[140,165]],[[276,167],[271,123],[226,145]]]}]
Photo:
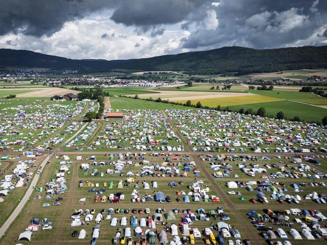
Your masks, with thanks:
[{"label": "large dark grey storm cloud bank over the hills at upper right", "polygon": [[[275,48],[305,40],[327,23],[327,1],[308,0],[222,0],[213,8],[217,28],[198,28],[182,39],[183,48],[205,49],[222,46]],[[184,24],[188,27],[192,20]],[[319,45],[311,41],[309,45]],[[300,45],[300,44],[299,44]]]}]

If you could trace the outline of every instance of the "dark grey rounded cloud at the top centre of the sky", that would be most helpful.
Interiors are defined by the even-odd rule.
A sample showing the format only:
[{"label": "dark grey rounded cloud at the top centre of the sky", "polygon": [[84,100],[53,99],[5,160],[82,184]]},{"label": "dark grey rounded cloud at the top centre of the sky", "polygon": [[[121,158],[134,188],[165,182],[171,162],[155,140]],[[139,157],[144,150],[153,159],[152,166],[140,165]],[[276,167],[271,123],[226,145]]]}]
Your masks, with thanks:
[{"label": "dark grey rounded cloud at the top centre of the sky", "polygon": [[207,0],[122,0],[111,19],[126,26],[175,24],[185,20]]}]

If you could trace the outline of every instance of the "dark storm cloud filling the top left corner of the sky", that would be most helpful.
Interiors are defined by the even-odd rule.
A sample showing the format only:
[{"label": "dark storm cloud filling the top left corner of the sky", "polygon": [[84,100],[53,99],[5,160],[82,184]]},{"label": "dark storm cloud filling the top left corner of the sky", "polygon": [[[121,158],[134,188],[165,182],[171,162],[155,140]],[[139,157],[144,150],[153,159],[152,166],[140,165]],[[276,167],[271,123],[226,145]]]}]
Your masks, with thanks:
[{"label": "dark storm cloud filling the top left corner of the sky", "polygon": [[67,21],[114,8],[110,0],[0,0],[0,35],[23,33],[40,37],[60,30]]}]

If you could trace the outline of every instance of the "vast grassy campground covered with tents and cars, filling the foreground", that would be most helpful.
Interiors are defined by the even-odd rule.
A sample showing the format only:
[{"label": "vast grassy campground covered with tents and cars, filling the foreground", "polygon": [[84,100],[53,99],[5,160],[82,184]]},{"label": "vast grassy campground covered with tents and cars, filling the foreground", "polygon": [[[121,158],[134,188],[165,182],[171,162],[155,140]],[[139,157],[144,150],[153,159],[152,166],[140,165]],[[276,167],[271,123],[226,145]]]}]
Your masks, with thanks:
[{"label": "vast grassy campground covered with tents and cars, filling the foreground", "polygon": [[[97,244],[112,244],[117,229],[123,235],[127,227],[135,242],[140,236],[134,235],[134,229],[141,220],[145,221],[142,231],[158,233],[175,223],[181,237],[181,224],[189,223],[191,229],[201,232],[195,243],[205,244],[203,230],[210,228],[217,237],[219,231],[214,227],[223,217],[230,218],[223,222],[230,232],[237,229],[241,240],[250,238],[252,244],[267,244],[251,223],[253,217],[260,221],[258,215],[247,216],[250,210],[264,216],[264,209],[283,218],[270,217],[272,222],[267,218],[266,226],[273,226],[274,231],[283,228],[292,244],[304,244],[308,242],[304,236],[295,240],[289,231],[302,231],[294,218],[306,225],[310,222],[304,220],[303,214],[284,214],[284,210],[319,210],[327,216],[323,203],[327,188],[325,127],[116,96],[110,97],[111,111],[123,112],[124,118],[91,122],[85,121],[84,114],[98,108],[92,100],[50,101],[45,97],[0,102],[0,117],[5,120],[0,128],[4,144],[0,154],[6,158],[1,160],[0,169],[6,169],[1,180],[14,169],[19,172],[3,183],[10,182],[6,185],[11,188],[16,181],[28,182],[22,169],[34,176],[42,159],[51,155],[27,204],[1,237],[1,244],[22,242],[18,236],[27,227],[38,231],[33,231],[31,242],[25,240],[24,244],[90,244],[97,222],[101,224]],[[255,96],[287,101],[283,91],[251,97]],[[296,94],[292,99],[297,99]],[[301,99],[312,102],[315,98],[308,94]],[[15,124],[12,117],[16,118]],[[52,123],[46,118],[51,118]],[[33,164],[36,166],[31,167]],[[30,187],[29,182],[26,186]],[[228,194],[230,191],[235,194]],[[25,187],[11,188],[8,196],[2,196],[0,208],[9,216],[25,192]],[[267,203],[260,202],[263,196]],[[223,209],[222,216],[218,207]],[[134,208],[136,213],[132,212]],[[146,208],[149,213],[145,213]],[[92,209],[95,212],[87,220]],[[160,209],[163,222],[151,220],[161,216]],[[200,215],[201,209],[208,217]],[[167,220],[168,212],[176,219]],[[33,217],[40,219],[40,226],[31,225]],[[123,217],[126,225],[121,225]],[[137,218],[136,224],[131,223],[132,217]],[[2,216],[0,226],[6,218]],[[43,230],[42,223],[47,221],[52,222],[51,229]],[[287,226],[289,221],[292,227]],[[327,224],[326,220],[319,223],[320,227]],[[72,237],[73,231],[78,236],[81,229],[87,233],[84,239]],[[186,230],[183,232],[189,237]],[[168,241],[173,240],[172,232],[166,233]],[[229,239],[235,244],[237,238],[224,237],[225,244]],[[325,239],[323,236],[310,243],[321,244]]]}]

